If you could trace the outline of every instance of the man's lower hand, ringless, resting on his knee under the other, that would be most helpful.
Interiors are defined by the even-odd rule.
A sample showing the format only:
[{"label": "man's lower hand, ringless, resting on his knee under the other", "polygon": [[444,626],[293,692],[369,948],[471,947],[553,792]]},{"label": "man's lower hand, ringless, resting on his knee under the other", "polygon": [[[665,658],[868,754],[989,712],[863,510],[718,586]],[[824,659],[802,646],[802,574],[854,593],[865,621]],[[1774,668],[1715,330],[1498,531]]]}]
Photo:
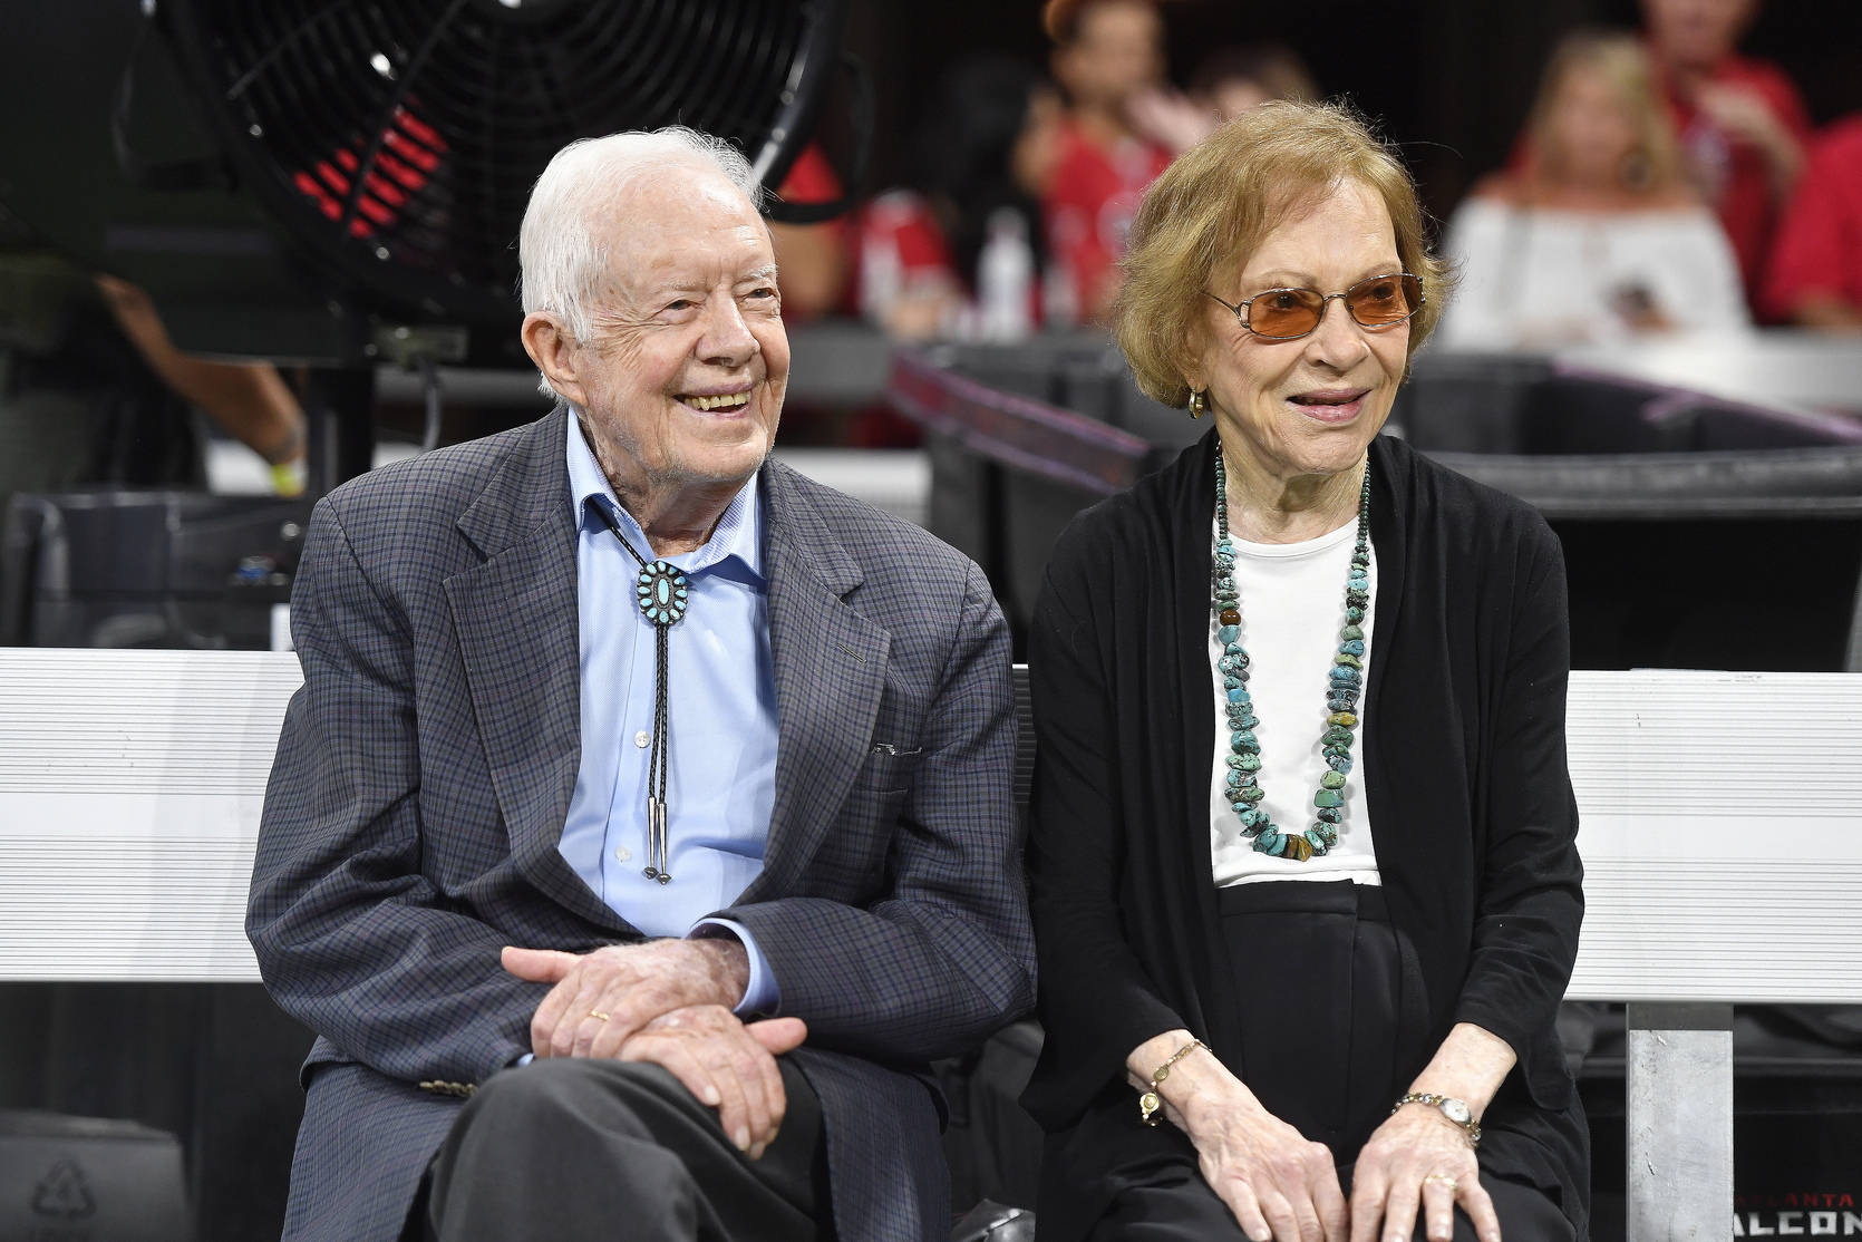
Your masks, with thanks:
[{"label": "man's lower hand, ringless, resting on his knee under the other", "polygon": [[762,1160],[788,1110],[776,1058],[808,1037],[801,1019],[745,1026],[724,1006],[663,1013],[620,1048],[622,1061],[652,1061],[717,1110],[724,1134]]}]

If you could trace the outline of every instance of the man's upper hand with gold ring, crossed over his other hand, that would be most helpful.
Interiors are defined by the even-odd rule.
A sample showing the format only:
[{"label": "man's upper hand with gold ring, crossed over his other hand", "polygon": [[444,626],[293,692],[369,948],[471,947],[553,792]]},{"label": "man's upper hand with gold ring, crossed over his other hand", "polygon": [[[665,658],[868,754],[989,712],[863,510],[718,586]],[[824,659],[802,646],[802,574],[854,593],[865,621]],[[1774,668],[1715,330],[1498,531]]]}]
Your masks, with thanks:
[{"label": "man's upper hand with gold ring, crossed over his other hand", "polygon": [[654,1019],[693,1006],[732,1009],[750,983],[734,938],[611,944],[594,953],[505,950],[505,970],[555,983],[531,1019],[536,1056],[620,1056]]}]

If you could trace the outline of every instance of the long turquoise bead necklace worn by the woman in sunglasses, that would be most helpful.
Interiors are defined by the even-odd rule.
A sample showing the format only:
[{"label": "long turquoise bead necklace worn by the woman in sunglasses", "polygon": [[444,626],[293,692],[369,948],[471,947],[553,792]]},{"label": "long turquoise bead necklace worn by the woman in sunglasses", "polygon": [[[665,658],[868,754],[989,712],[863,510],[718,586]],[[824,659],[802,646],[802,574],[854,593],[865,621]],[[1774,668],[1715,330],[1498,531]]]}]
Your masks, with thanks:
[{"label": "long turquoise bead necklace worn by the woman in sunglasses", "polygon": [[1313,795],[1315,823],[1305,832],[1281,829],[1261,806],[1266,790],[1261,788],[1261,739],[1255,726],[1253,698],[1248,695],[1248,652],[1242,650],[1240,592],[1235,588],[1235,542],[1229,538],[1229,475],[1221,462],[1221,441],[1216,441],[1216,637],[1221,641],[1221,685],[1227,691],[1223,708],[1229,715],[1229,776],[1223,795],[1242,819],[1242,834],[1253,838],[1255,849],[1275,858],[1305,862],[1331,851],[1339,844],[1339,821],[1344,817],[1344,778],[1352,771],[1352,739],[1357,728],[1357,696],[1365,680],[1365,631],[1359,622],[1370,607],[1370,462],[1365,462],[1365,486],[1357,493],[1357,547],[1352,549],[1352,568],[1344,577],[1344,629],[1339,631],[1339,652],[1326,674],[1326,734],[1322,754],[1326,775]]}]

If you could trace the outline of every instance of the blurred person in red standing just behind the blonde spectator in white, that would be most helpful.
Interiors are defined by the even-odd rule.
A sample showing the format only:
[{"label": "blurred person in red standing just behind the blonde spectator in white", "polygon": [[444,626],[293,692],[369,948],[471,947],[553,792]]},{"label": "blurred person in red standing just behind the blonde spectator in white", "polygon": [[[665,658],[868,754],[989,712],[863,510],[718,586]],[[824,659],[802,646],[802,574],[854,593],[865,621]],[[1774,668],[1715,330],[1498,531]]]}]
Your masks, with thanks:
[{"label": "blurred person in red standing just behind the blonde spectator in white", "polygon": [[1674,130],[1754,302],[1810,140],[1804,101],[1784,71],[1737,50],[1756,15],[1758,0],[1642,0]]}]

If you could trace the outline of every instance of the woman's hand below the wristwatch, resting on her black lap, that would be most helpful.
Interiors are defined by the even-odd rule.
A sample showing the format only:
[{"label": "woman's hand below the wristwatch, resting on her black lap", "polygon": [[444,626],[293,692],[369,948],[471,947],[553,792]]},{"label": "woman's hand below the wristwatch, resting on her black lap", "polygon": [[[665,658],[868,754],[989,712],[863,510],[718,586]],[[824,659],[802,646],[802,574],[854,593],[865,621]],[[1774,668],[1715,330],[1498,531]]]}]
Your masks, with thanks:
[{"label": "woman's hand below the wristwatch, resting on her black lap", "polygon": [[1475,1222],[1480,1242],[1501,1242],[1493,1201],[1467,1132],[1432,1104],[1406,1104],[1380,1125],[1352,1173],[1352,1242],[1410,1242],[1417,1207],[1428,1242],[1454,1236],[1454,1205]]}]

